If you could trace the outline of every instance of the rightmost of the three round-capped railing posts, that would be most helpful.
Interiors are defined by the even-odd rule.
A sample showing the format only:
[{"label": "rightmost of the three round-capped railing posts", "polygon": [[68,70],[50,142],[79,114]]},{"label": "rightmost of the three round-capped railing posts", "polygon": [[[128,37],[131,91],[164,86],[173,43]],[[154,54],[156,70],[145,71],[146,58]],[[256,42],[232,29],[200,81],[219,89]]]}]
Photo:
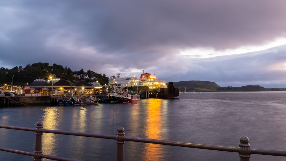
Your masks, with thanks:
[{"label": "rightmost of the three round-capped railing posts", "polygon": [[239,156],[240,161],[250,161],[251,148],[249,144],[249,139],[246,136],[242,136],[240,138]]}]

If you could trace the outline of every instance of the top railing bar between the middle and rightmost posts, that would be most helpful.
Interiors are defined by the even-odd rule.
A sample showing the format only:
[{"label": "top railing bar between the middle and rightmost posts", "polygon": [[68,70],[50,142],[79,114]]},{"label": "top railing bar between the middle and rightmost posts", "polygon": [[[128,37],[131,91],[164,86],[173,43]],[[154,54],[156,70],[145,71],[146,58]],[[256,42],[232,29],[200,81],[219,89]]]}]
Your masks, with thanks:
[{"label": "top railing bar between the middle and rightmost posts", "polygon": [[128,137],[128,136],[125,136],[124,140],[125,141],[133,141],[133,142],[143,142],[143,143],[152,143],[152,144],[161,144],[161,145],[180,146],[180,147],[188,147],[188,148],[219,150],[219,151],[227,151],[227,152],[239,152],[239,147],[232,147],[232,146],[195,144],[195,143],[176,142],[176,141],[170,141],[170,140],[135,138],[135,137]]}]

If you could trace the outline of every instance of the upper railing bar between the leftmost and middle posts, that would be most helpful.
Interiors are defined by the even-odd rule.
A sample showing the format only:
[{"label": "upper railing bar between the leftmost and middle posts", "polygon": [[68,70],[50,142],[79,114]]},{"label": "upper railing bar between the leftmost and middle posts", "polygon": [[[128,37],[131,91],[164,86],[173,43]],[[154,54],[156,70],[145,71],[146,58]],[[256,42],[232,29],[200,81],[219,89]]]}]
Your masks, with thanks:
[{"label": "upper railing bar between the leftmost and middle posts", "polygon": [[70,132],[70,131],[47,130],[47,129],[41,129],[41,132],[74,135],[74,136],[86,136],[86,137],[92,137],[92,138],[103,138],[103,139],[114,139],[114,140],[116,139],[116,135],[95,134],[95,133],[87,133],[87,132]]}]

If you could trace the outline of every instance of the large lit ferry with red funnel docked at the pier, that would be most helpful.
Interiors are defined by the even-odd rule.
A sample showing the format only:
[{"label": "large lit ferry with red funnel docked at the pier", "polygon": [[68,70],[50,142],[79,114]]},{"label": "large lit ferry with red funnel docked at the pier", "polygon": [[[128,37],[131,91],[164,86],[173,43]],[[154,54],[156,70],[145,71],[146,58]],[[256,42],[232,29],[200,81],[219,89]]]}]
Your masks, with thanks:
[{"label": "large lit ferry with red funnel docked at the pier", "polygon": [[143,73],[138,79],[136,75],[133,77],[121,77],[120,73],[116,78],[108,79],[110,89],[114,86],[120,86],[127,89],[130,93],[140,94],[140,98],[175,98],[179,96],[179,89],[174,88],[173,82],[169,82],[168,86],[165,80],[158,80],[150,73]]}]

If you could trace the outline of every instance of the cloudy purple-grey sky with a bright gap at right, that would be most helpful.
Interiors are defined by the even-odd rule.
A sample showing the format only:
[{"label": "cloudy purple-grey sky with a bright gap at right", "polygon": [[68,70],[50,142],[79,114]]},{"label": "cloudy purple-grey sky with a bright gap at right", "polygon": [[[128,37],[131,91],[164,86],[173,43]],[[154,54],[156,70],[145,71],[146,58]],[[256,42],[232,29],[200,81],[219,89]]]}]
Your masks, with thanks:
[{"label": "cloudy purple-grey sky with a bright gap at right", "polygon": [[1,0],[0,66],[286,88],[284,0]]}]

